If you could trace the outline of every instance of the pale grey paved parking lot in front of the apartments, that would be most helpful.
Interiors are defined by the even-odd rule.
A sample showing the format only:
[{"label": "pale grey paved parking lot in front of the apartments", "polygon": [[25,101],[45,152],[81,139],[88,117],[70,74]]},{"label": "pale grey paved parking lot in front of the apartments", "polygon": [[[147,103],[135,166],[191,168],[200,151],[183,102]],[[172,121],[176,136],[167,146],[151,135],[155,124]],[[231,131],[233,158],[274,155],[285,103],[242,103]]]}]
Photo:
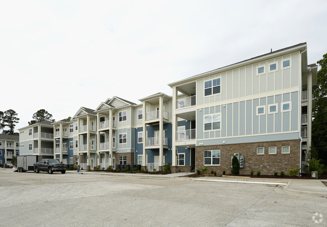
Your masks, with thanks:
[{"label": "pale grey paved parking lot in front of the apartments", "polygon": [[326,197],[280,187],[0,169],[0,225],[327,225]]}]

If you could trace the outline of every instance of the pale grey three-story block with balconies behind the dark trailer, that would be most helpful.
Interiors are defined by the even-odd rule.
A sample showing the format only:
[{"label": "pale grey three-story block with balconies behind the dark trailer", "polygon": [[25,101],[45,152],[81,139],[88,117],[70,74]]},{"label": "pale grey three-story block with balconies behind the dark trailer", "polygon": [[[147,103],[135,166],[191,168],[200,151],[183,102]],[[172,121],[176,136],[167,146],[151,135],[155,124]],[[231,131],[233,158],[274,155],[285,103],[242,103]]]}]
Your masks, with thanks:
[{"label": "pale grey three-story block with balconies behind the dark trailer", "polygon": [[37,155],[53,158],[53,126],[51,121],[41,121],[19,130],[20,155]]}]

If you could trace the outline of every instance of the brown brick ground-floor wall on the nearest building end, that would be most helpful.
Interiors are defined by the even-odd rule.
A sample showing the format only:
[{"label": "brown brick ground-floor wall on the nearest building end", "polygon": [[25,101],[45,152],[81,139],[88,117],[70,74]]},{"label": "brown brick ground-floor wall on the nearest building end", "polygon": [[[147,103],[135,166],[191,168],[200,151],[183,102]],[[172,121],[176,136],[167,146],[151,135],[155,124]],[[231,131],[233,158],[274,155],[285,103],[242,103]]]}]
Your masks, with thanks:
[{"label": "brown brick ground-floor wall on the nearest building end", "polygon": [[[195,169],[204,168],[204,150],[220,149],[220,166],[208,166],[208,173],[211,170],[222,174],[230,174],[231,156],[240,153],[244,156],[244,168],[239,169],[239,174],[250,175],[250,171],[261,171],[262,175],[273,175],[275,171],[280,174],[288,169],[300,168],[300,139],[282,140],[257,143],[235,143],[211,146],[196,146],[195,148]],[[276,146],[276,154],[269,155],[269,146]],[[290,154],[282,154],[282,146],[290,146]],[[264,147],[264,155],[257,155],[257,147]]]}]

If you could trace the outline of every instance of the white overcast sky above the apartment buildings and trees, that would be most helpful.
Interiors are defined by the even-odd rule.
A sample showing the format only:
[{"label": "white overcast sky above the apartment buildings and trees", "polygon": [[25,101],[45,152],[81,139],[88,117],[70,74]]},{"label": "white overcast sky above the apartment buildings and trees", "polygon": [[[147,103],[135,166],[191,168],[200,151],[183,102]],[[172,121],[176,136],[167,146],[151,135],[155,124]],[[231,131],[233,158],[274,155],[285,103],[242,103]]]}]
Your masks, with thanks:
[{"label": "white overcast sky above the apartment buildings and trees", "polygon": [[298,43],[327,52],[327,1],[0,0],[0,110],[16,130],[40,109],[56,120],[107,98],[169,83]]}]

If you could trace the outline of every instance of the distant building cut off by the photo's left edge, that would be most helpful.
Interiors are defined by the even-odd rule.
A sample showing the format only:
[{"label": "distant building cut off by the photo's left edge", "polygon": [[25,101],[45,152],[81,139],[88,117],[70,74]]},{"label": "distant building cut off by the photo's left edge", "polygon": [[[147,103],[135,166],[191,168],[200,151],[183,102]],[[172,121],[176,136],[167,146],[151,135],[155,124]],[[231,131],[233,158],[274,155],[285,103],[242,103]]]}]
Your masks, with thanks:
[{"label": "distant building cut off by the photo's left edge", "polygon": [[13,156],[19,156],[19,136],[0,134],[0,164],[12,163]]}]

